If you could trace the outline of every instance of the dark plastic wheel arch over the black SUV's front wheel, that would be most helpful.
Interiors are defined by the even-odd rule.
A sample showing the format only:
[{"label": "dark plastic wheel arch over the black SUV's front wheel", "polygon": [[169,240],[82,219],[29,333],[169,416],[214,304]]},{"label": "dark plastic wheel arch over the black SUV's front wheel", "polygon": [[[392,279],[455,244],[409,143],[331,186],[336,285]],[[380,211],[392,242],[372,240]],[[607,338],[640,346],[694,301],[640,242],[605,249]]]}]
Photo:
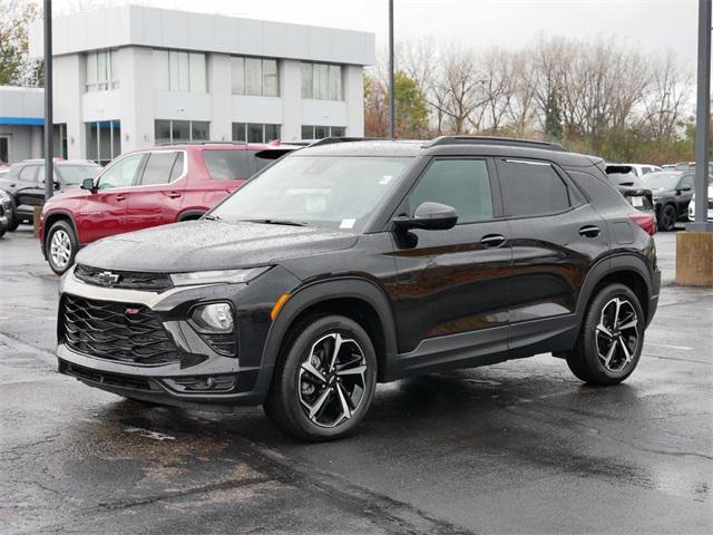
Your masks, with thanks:
[{"label": "dark plastic wheel arch over the black SUV's front wheel", "polygon": [[374,282],[339,278],[301,288],[280,310],[263,349],[263,367],[271,370],[271,381],[290,330],[306,317],[318,313],[345,315],[359,323],[374,344],[378,380],[388,381],[394,376],[397,334],[389,298]]}]

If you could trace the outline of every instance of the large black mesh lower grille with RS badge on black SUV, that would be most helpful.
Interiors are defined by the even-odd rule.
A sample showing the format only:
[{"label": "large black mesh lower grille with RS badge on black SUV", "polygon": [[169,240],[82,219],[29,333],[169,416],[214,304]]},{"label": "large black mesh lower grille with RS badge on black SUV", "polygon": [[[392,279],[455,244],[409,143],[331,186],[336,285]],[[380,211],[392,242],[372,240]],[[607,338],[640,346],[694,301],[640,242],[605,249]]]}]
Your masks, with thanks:
[{"label": "large black mesh lower grille with RS badge on black SUV", "polygon": [[143,304],[65,295],[60,318],[65,342],[79,353],[135,366],[180,360],[166,330]]}]

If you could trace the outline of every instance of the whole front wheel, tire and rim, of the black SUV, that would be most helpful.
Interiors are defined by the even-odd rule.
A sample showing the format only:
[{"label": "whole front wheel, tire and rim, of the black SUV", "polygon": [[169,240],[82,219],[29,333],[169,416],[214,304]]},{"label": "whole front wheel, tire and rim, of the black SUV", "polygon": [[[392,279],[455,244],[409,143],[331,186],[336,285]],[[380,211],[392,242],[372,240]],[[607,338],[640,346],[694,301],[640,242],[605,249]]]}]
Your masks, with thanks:
[{"label": "whole front wheel, tire and rim, of the black SUV", "polygon": [[363,419],[377,386],[369,334],[342,315],[312,317],[291,330],[264,410],[286,434],[343,438]]}]

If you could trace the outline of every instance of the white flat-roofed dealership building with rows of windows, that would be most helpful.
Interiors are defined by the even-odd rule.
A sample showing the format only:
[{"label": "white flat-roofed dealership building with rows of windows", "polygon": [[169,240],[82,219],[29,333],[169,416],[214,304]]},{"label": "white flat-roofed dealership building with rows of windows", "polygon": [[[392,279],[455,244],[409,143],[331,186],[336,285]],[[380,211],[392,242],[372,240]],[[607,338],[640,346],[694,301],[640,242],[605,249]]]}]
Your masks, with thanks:
[{"label": "white flat-roofed dealership building with rows of windows", "polygon": [[[363,135],[373,33],[140,6],[56,18],[52,31],[56,155],[105,164],[162,143]],[[41,21],[30,54],[42,55]],[[9,159],[38,157],[41,89],[0,99]]]}]

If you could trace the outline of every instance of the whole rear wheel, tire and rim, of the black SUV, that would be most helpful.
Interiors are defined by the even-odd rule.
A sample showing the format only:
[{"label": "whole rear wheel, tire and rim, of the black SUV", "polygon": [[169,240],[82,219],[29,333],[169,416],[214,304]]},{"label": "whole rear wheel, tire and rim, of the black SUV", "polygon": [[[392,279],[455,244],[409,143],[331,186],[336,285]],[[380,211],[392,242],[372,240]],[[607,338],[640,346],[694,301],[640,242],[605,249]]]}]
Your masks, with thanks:
[{"label": "whole rear wheel, tire and rim, of the black SUV", "polygon": [[590,385],[619,383],[638,363],[644,329],[644,311],[636,294],[623,284],[606,285],[587,309],[567,364]]}]

